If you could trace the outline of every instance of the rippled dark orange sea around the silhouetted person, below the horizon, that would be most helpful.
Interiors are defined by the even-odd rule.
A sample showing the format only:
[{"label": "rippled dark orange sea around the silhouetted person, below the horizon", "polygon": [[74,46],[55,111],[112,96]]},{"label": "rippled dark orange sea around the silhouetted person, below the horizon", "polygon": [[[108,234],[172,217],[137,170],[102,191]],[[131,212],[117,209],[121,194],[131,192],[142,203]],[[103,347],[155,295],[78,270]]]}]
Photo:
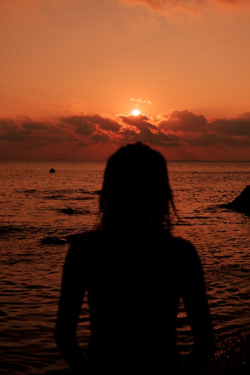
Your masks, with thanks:
[{"label": "rippled dark orange sea around the silhouetted person, below the horizon", "polygon": [[[104,167],[103,161],[0,162],[1,375],[67,369],[54,342],[62,267],[72,235],[99,223]],[[177,211],[173,235],[193,243],[204,270],[217,345],[205,373],[248,373],[250,217],[221,204],[250,184],[250,162],[169,161],[167,168]],[[177,345],[187,355],[193,342],[182,303],[177,320]],[[89,334],[84,299],[82,346]]]}]

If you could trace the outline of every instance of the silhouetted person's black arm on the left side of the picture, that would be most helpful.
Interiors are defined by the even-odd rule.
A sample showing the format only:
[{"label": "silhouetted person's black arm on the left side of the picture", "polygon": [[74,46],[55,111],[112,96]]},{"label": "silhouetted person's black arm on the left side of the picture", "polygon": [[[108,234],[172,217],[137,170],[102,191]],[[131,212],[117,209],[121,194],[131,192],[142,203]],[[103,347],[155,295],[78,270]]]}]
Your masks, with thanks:
[{"label": "silhouetted person's black arm on the left side of the picture", "polygon": [[69,368],[86,372],[86,360],[77,342],[76,329],[82,300],[84,280],[77,246],[71,244],[65,258],[59,307],[55,325],[55,342]]}]

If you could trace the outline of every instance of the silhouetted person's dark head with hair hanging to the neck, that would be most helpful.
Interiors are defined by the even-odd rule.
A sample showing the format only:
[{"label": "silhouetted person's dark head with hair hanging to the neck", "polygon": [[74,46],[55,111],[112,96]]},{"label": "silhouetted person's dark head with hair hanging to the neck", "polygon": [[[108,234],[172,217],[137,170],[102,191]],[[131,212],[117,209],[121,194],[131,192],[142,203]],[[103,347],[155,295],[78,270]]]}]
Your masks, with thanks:
[{"label": "silhouetted person's dark head with hair hanging to the neck", "polygon": [[169,202],[166,161],[158,151],[136,142],[109,157],[100,195],[103,225],[162,226]]}]

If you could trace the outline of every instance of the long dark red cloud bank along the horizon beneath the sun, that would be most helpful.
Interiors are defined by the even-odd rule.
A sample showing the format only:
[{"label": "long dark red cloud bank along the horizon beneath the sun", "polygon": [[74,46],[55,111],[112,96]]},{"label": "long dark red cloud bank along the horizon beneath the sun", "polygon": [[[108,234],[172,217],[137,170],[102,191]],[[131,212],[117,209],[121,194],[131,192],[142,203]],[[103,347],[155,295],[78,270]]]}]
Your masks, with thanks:
[{"label": "long dark red cloud bank along the horizon beneath the sun", "polygon": [[48,157],[60,150],[61,157],[65,159],[73,157],[72,154],[89,159],[97,157],[98,150],[105,150],[107,155],[108,150],[135,141],[155,145],[161,150],[189,147],[191,154],[202,147],[208,155],[211,155],[211,147],[217,150],[229,147],[234,154],[238,154],[241,147],[244,154],[249,155],[250,112],[235,118],[212,120],[188,110],[171,110],[155,118],[144,114],[113,116],[98,113],[64,116],[49,121],[36,121],[27,116],[0,119],[2,158],[3,150],[8,155],[19,154],[21,158],[23,150],[29,149],[33,150],[30,155],[40,150],[39,155]]}]

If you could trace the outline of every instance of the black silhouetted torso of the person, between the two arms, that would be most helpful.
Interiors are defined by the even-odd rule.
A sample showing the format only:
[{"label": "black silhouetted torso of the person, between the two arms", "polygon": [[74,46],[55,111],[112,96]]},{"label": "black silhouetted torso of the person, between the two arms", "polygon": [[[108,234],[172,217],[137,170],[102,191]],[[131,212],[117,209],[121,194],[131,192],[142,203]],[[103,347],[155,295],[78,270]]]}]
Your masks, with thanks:
[{"label": "black silhouetted torso of the person, between the two arms", "polygon": [[176,361],[185,244],[164,234],[128,237],[97,231],[80,236],[93,363],[110,357],[123,366],[124,358],[128,366],[130,361],[146,366]]}]

